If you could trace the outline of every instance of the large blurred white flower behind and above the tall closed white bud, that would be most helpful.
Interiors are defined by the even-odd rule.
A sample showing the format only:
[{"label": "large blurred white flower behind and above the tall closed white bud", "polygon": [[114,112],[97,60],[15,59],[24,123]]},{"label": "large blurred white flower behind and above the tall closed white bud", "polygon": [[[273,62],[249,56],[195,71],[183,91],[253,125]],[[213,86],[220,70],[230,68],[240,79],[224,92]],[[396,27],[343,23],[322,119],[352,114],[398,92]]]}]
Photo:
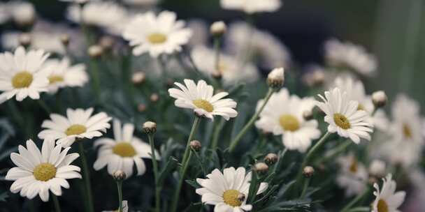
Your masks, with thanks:
[{"label": "large blurred white flower behind and above the tall closed white bud", "polygon": [[272,69],[288,68],[291,55],[283,43],[266,31],[254,29],[245,22],[230,24],[226,33],[226,46],[231,54],[242,61],[254,59],[259,66]]}]

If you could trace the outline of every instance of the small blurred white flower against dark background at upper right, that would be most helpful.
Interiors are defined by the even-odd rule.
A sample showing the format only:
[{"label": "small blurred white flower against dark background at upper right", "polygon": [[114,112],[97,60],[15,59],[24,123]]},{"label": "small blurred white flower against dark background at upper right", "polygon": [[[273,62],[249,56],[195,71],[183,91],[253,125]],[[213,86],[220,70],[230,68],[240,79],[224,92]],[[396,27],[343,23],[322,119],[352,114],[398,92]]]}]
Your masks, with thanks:
[{"label": "small blurred white flower against dark background at upper right", "polygon": [[333,38],[324,44],[325,58],[331,66],[354,70],[361,75],[374,75],[377,60],[373,54],[366,52],[364,47],[353,43],[341,43]]}]

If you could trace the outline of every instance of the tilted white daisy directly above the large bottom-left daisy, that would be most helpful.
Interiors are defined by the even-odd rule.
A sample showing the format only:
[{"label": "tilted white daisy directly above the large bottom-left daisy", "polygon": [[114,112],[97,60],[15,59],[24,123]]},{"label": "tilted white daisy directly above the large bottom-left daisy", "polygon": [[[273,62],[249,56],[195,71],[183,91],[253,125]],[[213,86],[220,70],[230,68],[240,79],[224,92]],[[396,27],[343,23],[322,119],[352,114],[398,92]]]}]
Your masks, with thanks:
[{"label": "tilted white daisy directly above the large bottom-left daisy", "polygon": [[66,109],[66,117],[59,114],[50,114],[50,119],[41,125],[45,130],[38,133],[41,139],[57,139],[57,144],[64,147],[71,146],[75,139],[100,137],[102,132],[110,128],[110,118],[100,112],[92,116],[93,108]]}]

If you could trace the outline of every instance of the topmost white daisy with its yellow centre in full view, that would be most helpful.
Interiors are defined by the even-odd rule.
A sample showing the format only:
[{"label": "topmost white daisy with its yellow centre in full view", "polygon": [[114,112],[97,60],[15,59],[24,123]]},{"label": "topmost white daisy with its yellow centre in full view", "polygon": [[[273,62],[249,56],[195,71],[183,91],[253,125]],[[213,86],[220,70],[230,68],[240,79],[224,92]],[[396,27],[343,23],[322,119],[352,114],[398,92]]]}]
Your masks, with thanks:
[{"label": "topmost white daisy with its yellow centre in full view", "polygon": [[187,44],[192,31],[184,28],[185,22],[176,20],[177,15],[163,11],[136,15],[124,29],[122,36],[134,46],[133,54],[138,56],[149,52],[150,56],[180,52]]}]

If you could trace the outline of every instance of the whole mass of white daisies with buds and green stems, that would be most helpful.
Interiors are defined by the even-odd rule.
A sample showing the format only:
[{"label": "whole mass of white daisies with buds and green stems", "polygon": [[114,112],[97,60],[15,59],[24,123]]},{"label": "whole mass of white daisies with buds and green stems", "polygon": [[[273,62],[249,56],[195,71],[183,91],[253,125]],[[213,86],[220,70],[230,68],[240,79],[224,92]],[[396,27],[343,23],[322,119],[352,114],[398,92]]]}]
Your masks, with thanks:
[{"label": "whole mass of white daisies with buds and green stems", "polygon": [[379,66],[365,47],[331,38],[324,64],[301,70],[248,18],[185,21],[156,0],[56,3],[64,22],[0,3],[6,211],[397,212],[423,188],[421,107],[370,91]]}]

